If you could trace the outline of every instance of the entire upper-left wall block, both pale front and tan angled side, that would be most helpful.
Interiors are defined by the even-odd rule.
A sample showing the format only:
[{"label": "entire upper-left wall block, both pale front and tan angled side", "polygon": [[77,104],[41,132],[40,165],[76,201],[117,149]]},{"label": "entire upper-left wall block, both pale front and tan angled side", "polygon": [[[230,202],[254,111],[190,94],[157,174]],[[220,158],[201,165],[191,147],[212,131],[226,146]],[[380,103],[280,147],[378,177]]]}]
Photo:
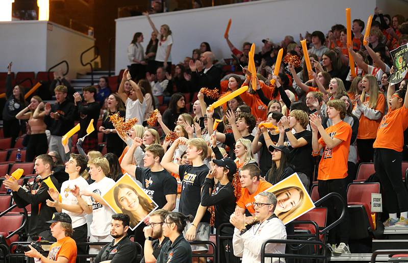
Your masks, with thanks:
[{"label": "entire upper-left wall block, both pale front and tan angled side", "polygon": [[[80,63],[80,54],[94,45],[95,39],[46,21],[0,22],[0,71],[46,71],[62,60],[69,63],[69,78],[88,67]],[[93,57],[93,51],[84,60]],[[62,65],[65,70],[65,66]]]}]

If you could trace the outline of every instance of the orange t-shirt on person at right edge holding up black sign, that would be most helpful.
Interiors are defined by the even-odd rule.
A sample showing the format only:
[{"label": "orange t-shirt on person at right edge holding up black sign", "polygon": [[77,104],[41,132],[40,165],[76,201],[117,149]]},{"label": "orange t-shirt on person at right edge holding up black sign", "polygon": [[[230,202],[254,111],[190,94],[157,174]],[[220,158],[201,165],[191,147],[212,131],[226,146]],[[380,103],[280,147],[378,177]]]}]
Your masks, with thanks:
[{"label": "orange t-shirt on person at right edge holding up black sign", "polygon": [[396,110],[389,109],[378,126],[373,148],[386,148],[402,152],[406,128],[408,128],[408,109],[403,105]]}]

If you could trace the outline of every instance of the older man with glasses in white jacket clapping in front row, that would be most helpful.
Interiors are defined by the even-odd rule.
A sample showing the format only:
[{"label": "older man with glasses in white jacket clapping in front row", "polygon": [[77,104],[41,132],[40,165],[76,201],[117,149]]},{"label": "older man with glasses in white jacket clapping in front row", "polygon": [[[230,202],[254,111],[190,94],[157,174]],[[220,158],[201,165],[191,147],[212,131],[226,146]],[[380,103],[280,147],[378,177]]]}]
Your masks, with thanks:
[{"label": "older man with glasses in white jacket clapping in front row", "polygon": [[[276,197],[269,192],[259,193],[253,202],[258,223],[249,229],[245,226],[245,216],[236,210],[230,223],[235,226],[233,236],[234,255],[242,257],[242,262],[261,262],[262,244],[270,239],[286,240],[284,223],[276,217]],[[268,244],[266,253],[284,254],[285,244]],[[265,262],[271,262],[269,258]],[[285,259],[272,258],[273,263],[285,262]]]}]

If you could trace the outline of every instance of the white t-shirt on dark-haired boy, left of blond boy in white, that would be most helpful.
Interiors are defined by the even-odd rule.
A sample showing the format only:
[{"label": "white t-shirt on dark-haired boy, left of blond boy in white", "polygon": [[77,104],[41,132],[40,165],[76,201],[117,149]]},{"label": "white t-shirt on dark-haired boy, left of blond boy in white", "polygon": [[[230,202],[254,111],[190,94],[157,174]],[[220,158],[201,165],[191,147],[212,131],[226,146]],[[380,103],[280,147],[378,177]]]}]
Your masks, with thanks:
[{"label": "white t-shirt on dark-haired boy, left of blond boy in white", "polygon": [[[73,189],[77,185],[80,190],[86,190],[89,187],[88,182],[82,177],[78,177],[77,179],[67,180],[62,183],[61,185],[61,197],[62,203],[67,205],[78,205],[77,198],[74,197],[71,193],[71,189]],[[88,196],[82,197],[87,204],[91,204],[91,199]],[[62,209],[62,212],[67,213],[72,220],[72,228],[77,228],[86,224],[86,213],[73,213]]]}]

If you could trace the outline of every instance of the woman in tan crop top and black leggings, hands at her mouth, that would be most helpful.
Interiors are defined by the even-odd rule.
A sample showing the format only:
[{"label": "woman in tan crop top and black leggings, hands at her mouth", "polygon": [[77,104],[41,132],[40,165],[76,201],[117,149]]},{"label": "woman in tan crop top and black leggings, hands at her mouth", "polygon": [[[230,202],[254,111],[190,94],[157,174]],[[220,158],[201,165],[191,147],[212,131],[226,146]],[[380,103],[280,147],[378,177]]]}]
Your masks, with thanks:
[{"label": "woman in tan crop top and black leggings, hands at her mouth", "polygon": [[[40,154],[46,154],[48,150],[48,140],[45,130],[47,125],[44,123],[45,106],[41,98],[37,95],[33,96],[30,101],[30,105],[23,108],[17,113],[16,119],[28,119],[29,131],[27,136],[29,137],[29,144],[27,145],[27,151],[25,153],[25,161],[31,162],[35,156]],[[16,134],[18,131],[14,131]],[[24,160],[21,160],[24,161]]]}]

